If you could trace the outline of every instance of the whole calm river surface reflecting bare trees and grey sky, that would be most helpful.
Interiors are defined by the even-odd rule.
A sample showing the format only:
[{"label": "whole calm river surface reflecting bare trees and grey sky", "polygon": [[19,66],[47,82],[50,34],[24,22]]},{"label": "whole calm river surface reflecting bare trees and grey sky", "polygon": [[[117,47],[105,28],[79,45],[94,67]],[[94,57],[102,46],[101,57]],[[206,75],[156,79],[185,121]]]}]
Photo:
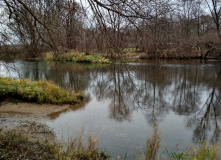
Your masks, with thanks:
[{"label": "whole calm river surface reflecting bare trees and grey sky", "polygon": [[[7,63],[10,65],[11,63]],[[89,65],[16,61],[0,75],[47,79],[83,91],[83,104],[50,115],[46,124],[61,142],[84,127],[100,148],[128,158],[143,153],[153,123],[162,131],[161,152],[221,141],[221,63]],[[19,71],[19,72],[17,72]]]}]

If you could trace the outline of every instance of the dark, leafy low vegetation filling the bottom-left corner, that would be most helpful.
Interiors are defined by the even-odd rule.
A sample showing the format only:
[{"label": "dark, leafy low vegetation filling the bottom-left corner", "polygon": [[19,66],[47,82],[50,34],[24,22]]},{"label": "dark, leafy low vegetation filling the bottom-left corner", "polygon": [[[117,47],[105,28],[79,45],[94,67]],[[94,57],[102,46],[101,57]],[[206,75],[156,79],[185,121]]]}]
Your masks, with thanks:
[{"label": "dark, leafy low vegetation filling the bottom-left corner", "polygon": [[14,131],[0,134],[0,159],[55,159],[51,147],[30,142]]}]

